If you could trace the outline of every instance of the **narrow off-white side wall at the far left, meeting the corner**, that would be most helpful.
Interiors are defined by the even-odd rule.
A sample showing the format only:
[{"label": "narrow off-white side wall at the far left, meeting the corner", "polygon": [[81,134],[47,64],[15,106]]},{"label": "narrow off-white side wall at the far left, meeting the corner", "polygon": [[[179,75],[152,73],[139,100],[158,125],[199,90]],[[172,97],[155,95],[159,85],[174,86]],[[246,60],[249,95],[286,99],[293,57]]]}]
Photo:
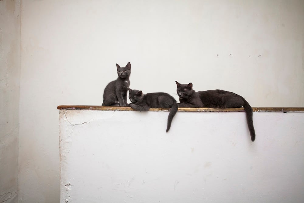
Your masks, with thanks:
[{"label": "narrow off-white side wall at the far left, meeting the corner", "polygon": [[20,23],[18,1],[0,1],[0,202],[18,201]]}]

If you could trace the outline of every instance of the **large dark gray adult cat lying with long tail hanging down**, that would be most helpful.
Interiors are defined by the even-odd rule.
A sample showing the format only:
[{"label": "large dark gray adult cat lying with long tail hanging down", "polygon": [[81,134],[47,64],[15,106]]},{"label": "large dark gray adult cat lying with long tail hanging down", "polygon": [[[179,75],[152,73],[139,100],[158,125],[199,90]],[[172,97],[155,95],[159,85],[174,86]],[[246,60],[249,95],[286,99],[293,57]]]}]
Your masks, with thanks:
[{"label": "large dark gray adult cat lying with long tail hanging down", "polygon": [[[195,92],[192,83],[180,84],[177,81],[177,94],[179,96],[178,107],[209,107],[209,108],[239,108],[244,107],[246,112],[247,125],[251,141],[255,140],[255,131],[252,121],[252,108],[249,103],[240,95],[225,90],[207,90]],[[200,99],[200,101],[198,100]]]}]

